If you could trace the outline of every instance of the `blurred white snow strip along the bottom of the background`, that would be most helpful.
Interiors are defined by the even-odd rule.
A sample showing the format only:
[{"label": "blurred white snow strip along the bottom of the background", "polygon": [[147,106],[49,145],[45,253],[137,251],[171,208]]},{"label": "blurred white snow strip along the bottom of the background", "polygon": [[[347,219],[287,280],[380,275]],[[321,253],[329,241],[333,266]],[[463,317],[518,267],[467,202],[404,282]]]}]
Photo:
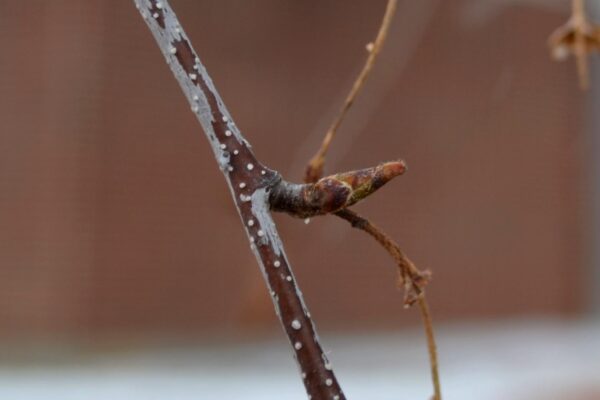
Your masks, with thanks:
[{"label": "blurred white snow strip along the bottom of the background", "polygon": [[[323,335],[348,399],[426,400],[420,332]],[[600,399],[600,323],[543,320],[438,329],[445,400]],[[579,397],[578,397],[579,396]],[[282,341],[0,361],[7,400],[303,400]]]}]

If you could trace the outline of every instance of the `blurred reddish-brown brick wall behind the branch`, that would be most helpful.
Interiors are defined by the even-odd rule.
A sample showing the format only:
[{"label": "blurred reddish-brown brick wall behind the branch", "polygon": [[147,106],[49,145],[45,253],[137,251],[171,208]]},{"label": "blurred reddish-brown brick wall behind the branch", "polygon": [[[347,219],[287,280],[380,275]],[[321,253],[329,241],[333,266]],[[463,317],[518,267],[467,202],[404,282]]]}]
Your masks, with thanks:
[{"label": "blurred reddish-brown brick wall behind the branch", "polygon": [[[434,270],[438,320],[581,308],[581,98],[565,14],[401,1],[330,172],[404,158],[358,209]],[[173,0],[257,155],[298,179],[384,1]],[[203,334],[272,321],[208,145],[131,1],[0,1],[0,336]],[[324,328],[415,320],[391,261],[278,216]],[[258,300],[257,300],[258,296]],[[262,300],[261,300],[262,299]]]}]

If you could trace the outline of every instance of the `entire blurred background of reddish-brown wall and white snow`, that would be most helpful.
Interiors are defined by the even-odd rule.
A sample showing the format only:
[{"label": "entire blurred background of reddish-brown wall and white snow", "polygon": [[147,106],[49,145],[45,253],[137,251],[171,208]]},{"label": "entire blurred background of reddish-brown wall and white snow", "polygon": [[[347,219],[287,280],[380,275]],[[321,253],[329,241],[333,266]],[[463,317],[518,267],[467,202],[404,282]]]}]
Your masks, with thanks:
[{"label": "entire blurred background of reddish-brown wall and white snow", "polygon": [[[385,1],[171,5],[258,157],[299,180]],[[447,399],[600,399],[600,76],[580,91],[546,45],[569,9],[400,0],[327,162],[408,163],[357,209],[434,272]],[[0,44],[0,398],[304,398],[133,2],[0,0]],[[384,251],[333,217],[276,219],[348,397],[427,398]]]}]

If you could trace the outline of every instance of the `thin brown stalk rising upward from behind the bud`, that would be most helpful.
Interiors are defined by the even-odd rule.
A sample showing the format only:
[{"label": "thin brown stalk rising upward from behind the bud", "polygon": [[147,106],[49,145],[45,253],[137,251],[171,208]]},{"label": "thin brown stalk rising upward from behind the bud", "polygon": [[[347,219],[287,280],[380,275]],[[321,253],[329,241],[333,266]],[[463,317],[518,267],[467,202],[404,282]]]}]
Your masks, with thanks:
[{"label": "thin brown stalk rising upward from behind the bud", "polygon": [[375,41],[373,43],[369,43],[367,45],[367,50],[369,51],[369,56],[367,57],[367,61],[365,62],[363,69],[358,74],[358,77],[354,81],[354,84],[352,85],[352,89],[350,90],[350,93],[348,93],[348,96],[346,96],[344,105],[342,106],[338,115],[336,116],[333,123],[329,127],[329,130],[325,134],[325,138],[323,139],[323,143],[321,144],[321,147],[319,148],[317,153],[313,156],[313,158],[308,163],[308,167],[306,168],[306,172],[305,172],[305,176],[304,176],[304,182],[316,182],[319,178],[321,178],[323,176],[323,166],[325,164],[325,156],[327,155],[329,146],[331,145],[331,142],[332,142],[338,128],[342,124],[342,121],[344,120],[346,112],[348,111],[348,109],[350,109],[350,107],[354,103],[354,100],[356,99],[360,90],[364,86],[364,84],[367,80],[367,77],[369,76],[369,73],[371,72],[371,69],[373,68],[373,65],[375,65],[375,60],[377,59],[377,55],[379,54],[379,52],[381,51],[381,48],[383,47],[383,43],[385,42],[389,27],[392,23],[394,12],[396,11],[396,4],[397,4],[397,0],[388,0],[387,6],[385,9],[385,14],[383,16],[383,20],[381,21],[381,26],[379,27],[379,32],[377,33],[377,37],[375,38]]}]

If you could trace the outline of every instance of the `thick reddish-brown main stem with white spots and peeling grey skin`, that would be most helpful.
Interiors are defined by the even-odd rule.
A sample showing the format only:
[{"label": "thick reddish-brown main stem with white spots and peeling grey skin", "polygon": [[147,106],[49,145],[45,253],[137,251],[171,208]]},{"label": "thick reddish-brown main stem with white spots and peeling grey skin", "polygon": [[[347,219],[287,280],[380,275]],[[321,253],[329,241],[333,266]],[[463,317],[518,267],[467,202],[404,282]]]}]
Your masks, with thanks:
[{"label": "thick reddish-brown main stem with white spots and peeling grey skin", "polygon": [[269,193],[280,175],[262,165],[233,122],[204,65],[167,0],[134,0],[204,129],[271,293],[275,311],[294,349],[313,400],[345,399],[317,339],[271,218]]}]

